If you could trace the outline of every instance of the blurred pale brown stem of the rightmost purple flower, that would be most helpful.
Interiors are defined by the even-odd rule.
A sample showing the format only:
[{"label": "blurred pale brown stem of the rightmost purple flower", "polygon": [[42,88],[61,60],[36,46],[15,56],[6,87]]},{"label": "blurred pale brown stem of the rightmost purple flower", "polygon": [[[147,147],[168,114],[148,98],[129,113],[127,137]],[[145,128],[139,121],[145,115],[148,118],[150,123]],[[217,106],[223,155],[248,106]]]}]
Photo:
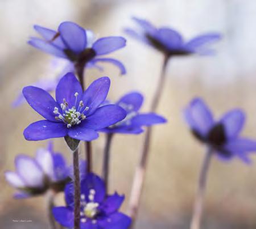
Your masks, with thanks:
[{"label": "blurred pale brown stem of the rightmost purple flower", "polygon": [[204,193],[205,193],[207,175],[209,171],[210,159],[212,158],[212,154],[213,154],[212,149],[209,147],[200,171],[196,200],[195,200],[195,205],[194,205],[194,210],[193,210],[193,215],[192,215],[192,220],[190,225],[191,229],[200,229],[201,216],[203,213]]}]

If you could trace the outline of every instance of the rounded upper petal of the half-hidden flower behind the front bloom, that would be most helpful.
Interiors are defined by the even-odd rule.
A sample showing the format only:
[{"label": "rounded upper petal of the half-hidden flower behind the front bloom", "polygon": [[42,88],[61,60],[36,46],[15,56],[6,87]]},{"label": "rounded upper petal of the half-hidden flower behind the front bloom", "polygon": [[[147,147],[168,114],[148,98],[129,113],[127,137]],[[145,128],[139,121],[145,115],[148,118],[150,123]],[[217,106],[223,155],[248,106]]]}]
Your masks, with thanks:
[{"label": "rounded upper petal of the half-hidden flower behind the front bloom", "polygon": [[119,99],[117,105],[129,111],[138,111],[143,103],[143,96],[139,92],[130,92]]}]

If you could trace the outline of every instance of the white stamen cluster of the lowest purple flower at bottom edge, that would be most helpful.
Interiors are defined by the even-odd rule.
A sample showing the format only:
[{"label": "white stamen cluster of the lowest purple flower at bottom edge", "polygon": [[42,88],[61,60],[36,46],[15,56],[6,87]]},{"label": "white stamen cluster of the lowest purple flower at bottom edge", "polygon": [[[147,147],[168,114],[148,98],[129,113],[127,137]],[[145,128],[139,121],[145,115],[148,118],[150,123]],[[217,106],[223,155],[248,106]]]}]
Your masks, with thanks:
[{"label": "white stamen cluster of the lowest purple flower at bottom edge", "polygon": [[96,192],[94,189],[90,189],[90,193],[88,196],[89,202],[85,201],[85,195],[81,194],[81,207],[83,211],[80,212],[81,215],[81,222],[85,223],[86,218],[92,219],[92,223],[97,223],[97,220],[94,219],[98,213],[98,206],[99,204],[97,202],[94,202],[94,196]]}]

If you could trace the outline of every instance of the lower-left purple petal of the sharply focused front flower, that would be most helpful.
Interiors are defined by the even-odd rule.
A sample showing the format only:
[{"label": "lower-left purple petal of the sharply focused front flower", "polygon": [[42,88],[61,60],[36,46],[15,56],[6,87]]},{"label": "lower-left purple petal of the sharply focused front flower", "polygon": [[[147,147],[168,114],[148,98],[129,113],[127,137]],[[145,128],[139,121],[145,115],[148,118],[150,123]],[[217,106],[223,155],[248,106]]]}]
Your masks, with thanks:
[{"label": "lower-left purple petal of the sharply focused front flower", "polygon": [[23,134],[28,141],[38,141],[64,137],[68,134],[68,128],[62,122],[41,120],[30,124]]}]

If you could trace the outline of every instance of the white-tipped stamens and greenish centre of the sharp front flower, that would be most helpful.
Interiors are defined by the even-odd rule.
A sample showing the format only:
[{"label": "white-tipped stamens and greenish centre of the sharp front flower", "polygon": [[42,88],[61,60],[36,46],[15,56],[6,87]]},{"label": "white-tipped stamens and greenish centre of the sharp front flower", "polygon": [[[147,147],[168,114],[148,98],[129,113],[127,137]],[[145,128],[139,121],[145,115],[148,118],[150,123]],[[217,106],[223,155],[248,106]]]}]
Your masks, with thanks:
[{"label": "white-tipped stamens and greenish centre of the sharp front flower", "polygon": [[82,100],[79,102],[79,107],[76,109],[76,103],[77,103],[77,96],[79,94],[76,92],[75,97],[75,105],[73,105],[71,108],[69,108],[69,104],[65,99],[63,99],[63,103],[60,104],[60,107],[62,109],[62,112],[59,112],[59,108],[55,107],[53,110],[53,113],[57,115],[55,118],[56,120],[63,121],[65,124],[67,124],[67,128],[71,128],[73,125],[78,125],[81,123],[81,120],[84,120],[86,116],[84,115],[85,111],[88,111],[89,107],[84,107],[84,103]]}]

